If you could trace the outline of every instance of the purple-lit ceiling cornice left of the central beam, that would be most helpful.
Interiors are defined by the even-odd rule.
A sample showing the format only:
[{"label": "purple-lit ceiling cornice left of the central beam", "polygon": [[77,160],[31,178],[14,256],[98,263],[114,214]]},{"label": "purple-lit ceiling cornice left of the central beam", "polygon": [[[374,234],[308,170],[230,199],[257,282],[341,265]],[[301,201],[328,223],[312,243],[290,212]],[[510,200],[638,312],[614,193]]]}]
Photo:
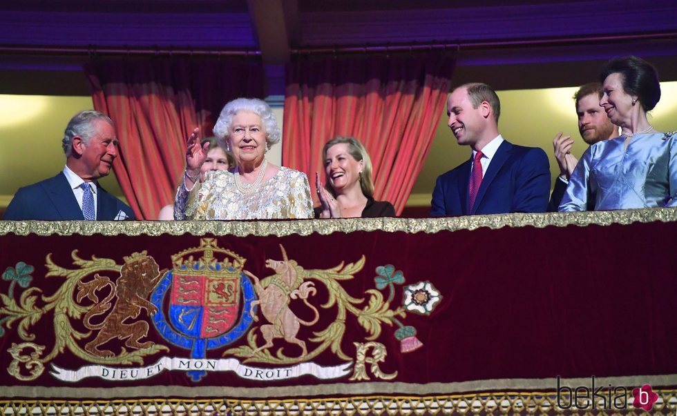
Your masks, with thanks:
[{"label": "purple-lit ceiling cornice left of the central beam", "polygon": [[0,43],[258,48],[248,13],[1,12]]}]

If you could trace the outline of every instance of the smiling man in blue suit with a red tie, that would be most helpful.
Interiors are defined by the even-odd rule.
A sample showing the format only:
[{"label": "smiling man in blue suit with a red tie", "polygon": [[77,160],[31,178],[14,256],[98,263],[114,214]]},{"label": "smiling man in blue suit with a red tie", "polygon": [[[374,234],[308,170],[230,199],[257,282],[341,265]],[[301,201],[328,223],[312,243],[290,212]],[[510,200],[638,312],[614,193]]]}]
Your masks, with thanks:
[{"label": "smiling man in blue suit with a red tie", "polygon": [[447,100],[448,126],[470,146],[468,161],[437,178],[432,216],[545,212],[550,166],[540,148],[516,146],[498,132],[501,104],[484,83],[468,83]]}]

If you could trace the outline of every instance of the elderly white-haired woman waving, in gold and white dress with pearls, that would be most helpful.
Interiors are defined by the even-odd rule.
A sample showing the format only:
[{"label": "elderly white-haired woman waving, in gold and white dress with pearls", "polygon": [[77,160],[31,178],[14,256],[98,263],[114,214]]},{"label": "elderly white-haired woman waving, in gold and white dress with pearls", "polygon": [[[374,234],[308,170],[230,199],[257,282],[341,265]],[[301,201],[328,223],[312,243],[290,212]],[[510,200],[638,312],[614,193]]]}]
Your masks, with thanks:
[{"label": "elderly white-haired woman waving, in gold and white dress with pearls", "polygon": [[268,163],[265,153],[280,141],[280,128],[270,107],[260,99],[239,98],[221,110],[214,135],[236,166],[205,175],[200,167],[207,145],[200,146],[196,128],[188,139],[186,172],[176,192],[175,219],[312,218],[310,186],[303,172]]}]

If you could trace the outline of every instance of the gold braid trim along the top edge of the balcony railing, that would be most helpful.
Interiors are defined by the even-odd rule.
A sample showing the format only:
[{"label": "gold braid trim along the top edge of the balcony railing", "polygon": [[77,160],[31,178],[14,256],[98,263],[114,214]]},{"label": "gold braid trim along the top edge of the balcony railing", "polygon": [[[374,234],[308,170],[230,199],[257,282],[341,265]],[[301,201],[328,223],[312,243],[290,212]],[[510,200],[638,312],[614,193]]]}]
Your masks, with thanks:
[{"label": "gold braid trim along the top edge of the balcony railing", "polygon": [[677,208],[471,215],[443,218],[298,219],[290,221],[0,221],[0,235],[329,235],[334,232],[440,232],[533,226],[588,226],[677,221]]}]

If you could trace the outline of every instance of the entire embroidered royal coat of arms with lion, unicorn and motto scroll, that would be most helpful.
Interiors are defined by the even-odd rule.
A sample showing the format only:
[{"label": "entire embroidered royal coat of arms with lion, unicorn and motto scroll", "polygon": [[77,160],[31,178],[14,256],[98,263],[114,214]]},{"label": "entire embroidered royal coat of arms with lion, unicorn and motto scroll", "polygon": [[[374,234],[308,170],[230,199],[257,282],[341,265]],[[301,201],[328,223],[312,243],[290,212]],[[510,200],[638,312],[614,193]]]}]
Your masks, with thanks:
[{"label": "entire embroidered royal coat of arms with lion, unicorn and motto scroll", "polygon": [[[51,294],[31,286],[35,267],[19,262],[3,273],[12,283],[7,295],[0,293],[0,337],[3,325],[18,323],[22,339],[8,349],[8,372],[32,381],[45,377],[52,361],[49,377],[70,383],[87,377],[127,382],[173,370],[185,371],[193,382],[215,371],[259,382],[304,375],[337,379],[350,375],[351,368],[349,380],[369,379],[369,373],[397,377],[397,371],[379,369],[388,353],[379,341],[383,326],[395,328],[391,336],[400,341],[401,353],[421,348],[417,330],[403,319],[408,312],[432,312],[441,299],[432,284],[406,286],[398,304],[396,286],[405,278],[388,264],[376,267],[374,288],[350,293],[348,283],[363,274],[365,256],[309,269],[279,248],[280,255],[257,271],[265,277],[245,270],[246,259],[220,248],[214,238],[172,255],[171,268],[163,270],[146,250],[124,256],[122,265],[82,259],[73,250],[75,268],[58,266],[47,255],[46,277],[61,279]],[[18,301],[15,286],[25,289]],[[53,315],[53,337],[36,337],[31,328],[47,315]],[[352,343],[344,342],[348,319],[357,329],[350,333],[358,340]],[[36,341],[49,338],[53,346],[45,355],[49,345]],[[187,353],[176,354],[169,346]],[[86,365],[57,363],[66,349]]]}]

